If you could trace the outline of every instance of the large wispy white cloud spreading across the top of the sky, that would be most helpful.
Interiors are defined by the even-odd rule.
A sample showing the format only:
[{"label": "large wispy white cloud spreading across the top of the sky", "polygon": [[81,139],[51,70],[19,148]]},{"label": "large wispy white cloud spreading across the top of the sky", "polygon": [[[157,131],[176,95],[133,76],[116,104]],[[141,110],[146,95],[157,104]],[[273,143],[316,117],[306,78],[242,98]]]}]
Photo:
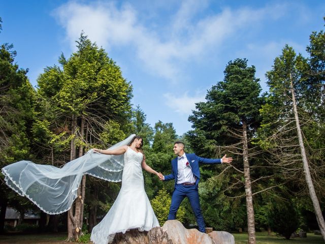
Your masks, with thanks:
[{"label": "large wispy white cloud spreading across the top of the sky", "polygon": [[252,28],[263,19],[279,18],[286,9],[284,5],[223,9],[214,15],[196,16],[208,7],[207,2],[204,3],[182,2],[171,18],[169,32],[161,32],[164,34],[159,32],[159,28],[153,31],[141,23],[136,9],[129,4],[118,8],[113,3],[68,2],[53,14],[66,29],[72,47],[83,30],[90,40],[105,48],[135,48],[135,58],[141,60],[144,70],[175,82],[184,76],[182,67],[187,60],[200,59],[212,50],[221,49],[222,43],[236,32]]}]

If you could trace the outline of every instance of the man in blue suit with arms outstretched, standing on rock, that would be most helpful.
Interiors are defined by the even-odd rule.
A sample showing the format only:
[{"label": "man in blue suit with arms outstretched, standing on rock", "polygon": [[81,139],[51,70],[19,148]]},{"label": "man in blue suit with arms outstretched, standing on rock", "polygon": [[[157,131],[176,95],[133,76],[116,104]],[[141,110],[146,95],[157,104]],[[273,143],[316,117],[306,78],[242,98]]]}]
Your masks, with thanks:
[{"label": "man in blue suit with arms outstretched, standing on rock", "polygon": [[174,153],[178,156],[172,160],[172,173],[169,175],[159,175],[160,180],[175,179],[175,188],[172,196],[172,203],[169,209],[168,220],[175,220],[177,210],[185,197],[188,198],[194,215],[197,219],[199,231],[205,233],[205,223],[202,216],[198,184],[200,180],[199,163],[203,164],[220,164],[231,163],[233,158],[222,159],[205,159],[195,154],[185,154],[185,145],[181,141],[174,143]]}]

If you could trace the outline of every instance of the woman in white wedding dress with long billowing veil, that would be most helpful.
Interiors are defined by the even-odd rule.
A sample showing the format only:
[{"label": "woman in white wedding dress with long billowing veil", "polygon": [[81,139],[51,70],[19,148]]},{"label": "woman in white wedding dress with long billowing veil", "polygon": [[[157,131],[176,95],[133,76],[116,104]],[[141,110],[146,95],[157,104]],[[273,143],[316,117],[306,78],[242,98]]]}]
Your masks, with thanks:
[{"label": "woman in white wedding dress with long billowing veil", "polygon": [[91,149],[61,168],[22,160],[2,168],[6,184],[50,215],[68,211],[77,198],[82,175],[122,181],[121,190],[105,218],[91,232],[95,244],[113,241],[118,232],[149,231],[159,226],[144,190],[142,168],[160,175],[146,162],[142,138],[131,135],[107,150]]}]

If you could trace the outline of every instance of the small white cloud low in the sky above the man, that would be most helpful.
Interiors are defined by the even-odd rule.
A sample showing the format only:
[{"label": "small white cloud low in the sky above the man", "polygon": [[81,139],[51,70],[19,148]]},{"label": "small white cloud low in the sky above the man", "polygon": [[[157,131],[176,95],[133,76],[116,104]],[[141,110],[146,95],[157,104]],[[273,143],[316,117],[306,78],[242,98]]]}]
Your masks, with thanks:
[{"label": "small white cloud low in the sky above the man", "polygon": [[164,94],[166,99],[166,105],[172,108],[175,112],[182,114],[191,114],[192,110],[195,109],[195,104],[198,102],[205,101],[205,95],[188,96],[187,93],[182,96],[175,94]]}]

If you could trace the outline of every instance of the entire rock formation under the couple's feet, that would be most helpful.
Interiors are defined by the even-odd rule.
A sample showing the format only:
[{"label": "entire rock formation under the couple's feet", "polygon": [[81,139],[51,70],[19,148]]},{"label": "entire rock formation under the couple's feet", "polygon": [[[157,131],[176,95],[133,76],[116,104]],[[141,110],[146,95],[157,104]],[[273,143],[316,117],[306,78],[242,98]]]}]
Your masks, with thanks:
[{"label": "entire rock formation under the couple's feet", "polygon": [[225,231],[212,231],[209,234],[197,229],[186,229],[177,220],[166,221],[163,227],[149,231],[133,229],[125,234],[117,233],[112,244],[235,244],[232,234]]}]

